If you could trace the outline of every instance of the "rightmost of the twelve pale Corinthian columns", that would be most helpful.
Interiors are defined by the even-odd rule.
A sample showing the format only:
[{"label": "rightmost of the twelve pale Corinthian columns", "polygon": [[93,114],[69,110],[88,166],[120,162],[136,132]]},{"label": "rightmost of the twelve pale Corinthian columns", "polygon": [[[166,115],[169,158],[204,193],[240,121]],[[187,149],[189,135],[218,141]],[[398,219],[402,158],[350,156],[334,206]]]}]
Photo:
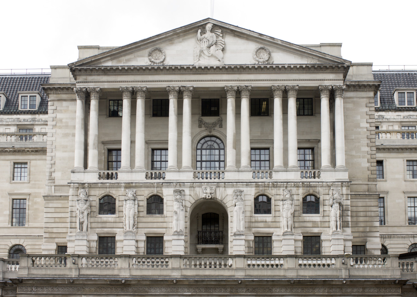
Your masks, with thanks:
[{"label": "rightmost of the twelve pale Corinthian columns", "polygon": [[345,169],[344,163],[344,118],[343,93],[345,86],[333,86],[334,90],[334,130],[336,138],[336,169]]}]

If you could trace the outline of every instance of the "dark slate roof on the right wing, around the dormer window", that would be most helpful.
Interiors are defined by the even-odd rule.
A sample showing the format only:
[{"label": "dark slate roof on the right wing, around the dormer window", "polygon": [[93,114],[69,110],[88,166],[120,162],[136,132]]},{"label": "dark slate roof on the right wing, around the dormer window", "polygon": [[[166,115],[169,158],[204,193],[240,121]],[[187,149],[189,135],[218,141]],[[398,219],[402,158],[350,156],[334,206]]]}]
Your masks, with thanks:
[{"label": "dark slate roof on the right wing, around the dormer window", "polygon": [[417,107],[396,106],[392,93],[394,88],[417,89],[417,71],[373,71],[372,74],[376,81],[382,81],[379,88],[380,107],[375,107],[375,111],[417,111]]}]

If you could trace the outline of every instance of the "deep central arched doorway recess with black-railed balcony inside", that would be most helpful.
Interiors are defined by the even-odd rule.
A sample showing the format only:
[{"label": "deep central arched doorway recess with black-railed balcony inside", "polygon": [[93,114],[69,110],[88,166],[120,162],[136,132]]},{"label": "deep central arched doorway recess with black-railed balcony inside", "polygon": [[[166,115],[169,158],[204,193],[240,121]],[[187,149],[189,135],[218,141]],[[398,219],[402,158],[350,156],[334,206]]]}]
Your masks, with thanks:
[{"label": "deep central arched doorway recess with black-railed balcony inside", "polygon": [[189,254],[229,254],[229,216],[220,201],[196,201],[189,230]]}]

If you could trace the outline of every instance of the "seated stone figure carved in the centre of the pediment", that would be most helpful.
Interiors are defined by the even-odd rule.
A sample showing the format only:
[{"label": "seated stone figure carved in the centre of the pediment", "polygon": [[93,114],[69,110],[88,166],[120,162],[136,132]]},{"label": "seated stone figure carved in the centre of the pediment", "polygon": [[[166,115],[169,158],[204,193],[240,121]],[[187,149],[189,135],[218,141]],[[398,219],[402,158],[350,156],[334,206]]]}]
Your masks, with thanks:
[{"label": "seated stone figure carved in the centre of the pediment", "polygon": [[[202,31],[203,35],[201,35]],[[198,62],[223,64],[223,50],[224,39],[220,28],[213,28],[213,24],[208,23],[206,28],[198,29],[197,45],[194,48],[194,64]]]}]

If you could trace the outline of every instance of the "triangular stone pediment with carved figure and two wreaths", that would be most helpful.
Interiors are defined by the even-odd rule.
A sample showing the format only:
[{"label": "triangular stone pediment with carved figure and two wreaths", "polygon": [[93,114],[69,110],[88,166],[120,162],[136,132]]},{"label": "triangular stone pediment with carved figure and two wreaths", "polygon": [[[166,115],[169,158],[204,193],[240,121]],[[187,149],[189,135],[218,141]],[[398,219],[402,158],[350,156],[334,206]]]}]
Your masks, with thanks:
[{"label": "triangular stone pediment with carved figure and two wreaths", "polygon": [[[208,23],[213,26],[207,31]],[[69,66],[321,63],[350,61],[207,18],[83,58]]]}]

